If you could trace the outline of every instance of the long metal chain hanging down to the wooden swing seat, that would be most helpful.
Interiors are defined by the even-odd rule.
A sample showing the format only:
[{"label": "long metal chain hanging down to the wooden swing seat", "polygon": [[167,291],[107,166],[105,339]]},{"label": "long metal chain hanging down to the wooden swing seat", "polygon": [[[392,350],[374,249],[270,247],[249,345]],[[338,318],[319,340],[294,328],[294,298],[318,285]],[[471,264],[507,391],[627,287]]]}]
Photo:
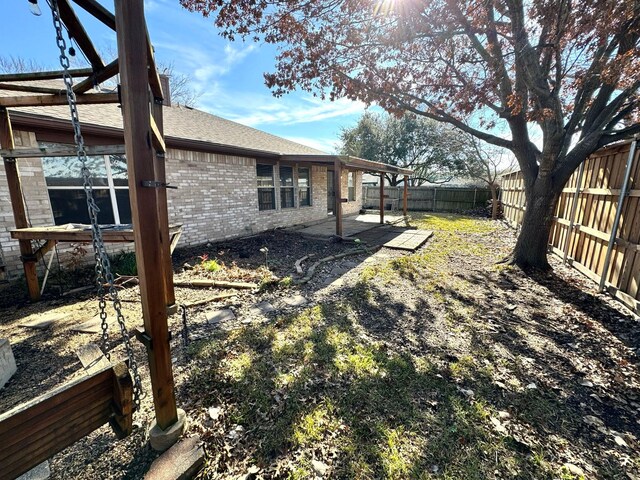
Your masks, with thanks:
[{"label": "long metal chain hanging down to the wooden swing seat", "polygon": [[107,352],[107,340],[108,329],[107,312],[105,299],[105,285],[108,287],[108,293],[113,303],[113,309],[116,312],[116,318],[118,320],[118,326],[120,327],[120,334],[127,351],[127,357],[129,358],[129,368],[133,373],[133,403],[136,410],[140,410],[140,398],[142,395],[142,381],[140,379],[140,373],[138,372],[138,363],[133,354],[133,347],[131,345],[131,338],[127,332],[127,326],[125,323],[124,315],[122,314],[122,304],[118,298],[118,291],[115,288],[113,273],[111,272],[111,261],[107,255],[107,251],[102,239],[102,231],[100,230],[100,224],[98,223],[98,212],[100,209],[96,204],[93,195],[93,181],[91,179],[91,171],[87,167],[87,153],[84,145],[84,138],[80,129],[80,118],[78,116],[78,107],[76,102],[76,95],[73,91],[73,77],[69,73],[70,62],[67,56],[67,44],[62,35],[63,27],[60,20],[60,11],[58,9],[58,1],[51,0],[51,13],[53,15],[53,26],[56,30],[56,42],[60,49],[60,65],[64,70],[63,80],[67,92],[67,100],[69,103],[69,110],[71,111],[71,124],[73,125],[73,133],[78,151],[78,160],[82,164],[82,180],[83,187],[87,197],[87,209],[89,211],[89,218],[91,219],[91,233],[94,258],[96,260],[96,283],[98,288],[99,307],[100,307],[100,320],[102,327],[102,349],[103,352],[109,356]]}]

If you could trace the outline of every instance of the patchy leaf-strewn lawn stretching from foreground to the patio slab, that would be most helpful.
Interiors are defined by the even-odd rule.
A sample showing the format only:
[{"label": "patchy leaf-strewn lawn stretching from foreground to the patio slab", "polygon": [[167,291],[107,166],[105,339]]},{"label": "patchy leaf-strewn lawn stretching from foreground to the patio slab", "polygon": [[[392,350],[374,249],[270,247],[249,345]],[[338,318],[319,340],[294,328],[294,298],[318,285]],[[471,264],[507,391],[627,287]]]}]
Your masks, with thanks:
[{"label": "patchy leaf-strewn lawn stretching from foreground to the patio slab", "polygon": [[499,224],[414,224],[435,231],[417,253],[191,345],[202,477],[637,478],[638,323],[557,265],[496,266]]}]

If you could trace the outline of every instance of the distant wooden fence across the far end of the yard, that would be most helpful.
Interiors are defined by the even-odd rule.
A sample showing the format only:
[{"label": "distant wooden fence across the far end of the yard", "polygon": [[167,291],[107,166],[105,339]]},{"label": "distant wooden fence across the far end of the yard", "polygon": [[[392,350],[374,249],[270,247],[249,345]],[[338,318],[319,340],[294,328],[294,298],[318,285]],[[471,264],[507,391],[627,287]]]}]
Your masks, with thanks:
[{"label": "distant wooden fence across the far end of the yard", "polygon": [[[384,187],[385,208],[402,210],[402,186]],[[380,187],[363,186],[364,208],[380,208]],[[485,206],[491,199],[491,191],[473,187],[409,187],[407,208],[412,211],[462,212]]]}]

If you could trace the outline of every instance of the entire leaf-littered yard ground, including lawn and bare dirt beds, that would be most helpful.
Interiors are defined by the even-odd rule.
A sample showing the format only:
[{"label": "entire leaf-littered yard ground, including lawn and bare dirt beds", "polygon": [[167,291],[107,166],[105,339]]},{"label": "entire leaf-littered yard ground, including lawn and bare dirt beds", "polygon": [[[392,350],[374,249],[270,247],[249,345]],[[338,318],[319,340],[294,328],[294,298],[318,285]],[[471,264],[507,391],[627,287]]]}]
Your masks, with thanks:
[{"label": "entire leaf-littered yard ground, including lawn and bare dirt beds", "polygon": [[[178,281],[260,285],[190,308],[187,345],[180,315],[170,318],[186,435],[200,435],[207,452],[202,478],[640,479],[637,318],[556,258],[543,275],[496,265],[514,243],[499,223],[413,223],[435,231],[417,252],[327,262],[304,286],[289,278],[297,258],[354,246],[274,232],[177,252]],[[176,289],[178,303],[218,293]],[[140,324],[138,288],[120,294],[128,326]],[[285,302],[295,295],[308,303]],[[3,297],[12,305],[0,309],[0,338],[18,373],[0,391],[0,412],[78,375],[74,350],[99,340],[70,331],[98,313],[93,295],[37,305]],[[273,312],[252,308],[264,301]],[[208,323],[219,308],[235,320]],[[42,314],[60,319],[20,326]],[[117,345],[115,328],[111,338]],[[157,456],[148,396],[141,410],[129,438],[103,427],[56,455],[53,478],[141,478]]]}]

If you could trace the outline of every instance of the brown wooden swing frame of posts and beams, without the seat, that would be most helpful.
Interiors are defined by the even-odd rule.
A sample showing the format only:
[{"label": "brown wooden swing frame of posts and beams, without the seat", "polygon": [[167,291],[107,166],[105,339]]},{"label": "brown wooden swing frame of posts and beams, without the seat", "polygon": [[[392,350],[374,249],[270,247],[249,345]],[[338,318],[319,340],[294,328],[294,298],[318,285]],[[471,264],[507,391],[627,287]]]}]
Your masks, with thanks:
[{"label": "brown wooden swing frame of posts and beams, without the seat", "polygon": [[[144,321],[144,330],[139,338],[147,347],[156,422],[160,429],[168,430],[175,428],[178,422],[167,326],[167,306],[174,304],[175,299],[165,189],[163,91],[145,23],[144,1],[115,0],[115,14],[96,0],[58,0],[58,6],[60,18],[70,37],[90,62],[90,68],[70,71],[73,77],[80,79],[73,87],[77,103],[119,103],[122,107],[133,223],[132,231],[124,235],[123,240],[133,239],[135,243]],[[107,65],[103,63],[76,14],[76,7],[84,9],[116,32],[116,60]],[[31,240],[44,238],[56,241],[62,238],[55,235],[51,238],[46,235],[43,237],[42,229],[29,234],[30,224],[24,202],[25,193],[20,182],[19,163],[22,158],[45,156],[47,153],[39,149],[25,151],[15,148],[8,109],[67,105],[64,90],[36,86],[37,84],[13,83],[62,79],[63,74],[63,71],[49,71],[0,75],[0,89],[21,92],[19,96],[0,97],[0,155],[3,158],[18,232],[14,234],[14,238],[19,239],[24,274],[33,300],[39,298],[36,266],[43,250],[34,251]],[[116,74],[120,75],[119,94],[90,93],[95,85]],[[91,149],[87,150],[91,154]],[[77,152],[69,149],[66,153],[58,153],[72,156]],[[86,240],[86,234],[86,231],[65,232],[63,240]],[[108,239],[109,235],[106,237]],[[50,242],[45,243],[45,248],[50,246]],[[57,446],[54,445],[53,448]]]}]

